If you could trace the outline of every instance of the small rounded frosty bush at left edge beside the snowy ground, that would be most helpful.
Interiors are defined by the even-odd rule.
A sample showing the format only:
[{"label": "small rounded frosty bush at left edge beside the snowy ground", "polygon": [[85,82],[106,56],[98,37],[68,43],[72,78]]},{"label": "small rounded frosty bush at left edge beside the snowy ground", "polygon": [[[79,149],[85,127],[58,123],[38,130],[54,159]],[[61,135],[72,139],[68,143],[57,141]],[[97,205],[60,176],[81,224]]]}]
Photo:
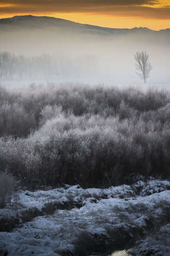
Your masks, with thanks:
[{"label": "small rounded frosty bush at left edge beside the snowy ground", "polygon": [[11,201],[14,185],[15,181],[12,174],[7,172],[0,173],[0,208],[5,207]]}]

